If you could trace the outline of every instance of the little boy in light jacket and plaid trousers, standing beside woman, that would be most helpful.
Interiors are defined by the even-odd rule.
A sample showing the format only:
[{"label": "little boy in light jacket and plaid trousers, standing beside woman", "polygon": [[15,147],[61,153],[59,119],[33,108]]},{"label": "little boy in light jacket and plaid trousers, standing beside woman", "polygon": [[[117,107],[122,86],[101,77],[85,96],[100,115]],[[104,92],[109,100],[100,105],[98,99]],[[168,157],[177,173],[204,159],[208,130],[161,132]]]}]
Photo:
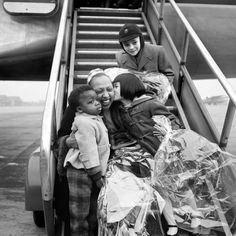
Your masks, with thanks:
[{"label": "little boy in light jacket and plaid trousers, standing beside woman", "polygon": [[107,129],[99,116],[102,107],[89,85],[74,89],[69,106],[76,116],[72,124],[79,149],[69,149],[67,166],[71,236],[97,234],[97,197],[103,186],[110,144]]}]

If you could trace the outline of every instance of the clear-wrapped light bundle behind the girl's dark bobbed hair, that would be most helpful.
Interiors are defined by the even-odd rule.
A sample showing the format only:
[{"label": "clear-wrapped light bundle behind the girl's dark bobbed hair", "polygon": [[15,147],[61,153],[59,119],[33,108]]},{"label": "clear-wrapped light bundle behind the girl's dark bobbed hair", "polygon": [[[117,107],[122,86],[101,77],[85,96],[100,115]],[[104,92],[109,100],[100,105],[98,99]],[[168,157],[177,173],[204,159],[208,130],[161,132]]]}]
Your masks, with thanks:
[{"label": "clear-wrapped light bundle behind the girl's dark bobbed hair", "polygon": [[162,104],[166,103],[171,93],[171,86],[165,75],[156,72],[138,72],[118,67],[105,69],[105,73],[111,78],[112,81],[116,76],[128,72],[137,75],[143,81],[147,91],[157,95],[159,102]]}]

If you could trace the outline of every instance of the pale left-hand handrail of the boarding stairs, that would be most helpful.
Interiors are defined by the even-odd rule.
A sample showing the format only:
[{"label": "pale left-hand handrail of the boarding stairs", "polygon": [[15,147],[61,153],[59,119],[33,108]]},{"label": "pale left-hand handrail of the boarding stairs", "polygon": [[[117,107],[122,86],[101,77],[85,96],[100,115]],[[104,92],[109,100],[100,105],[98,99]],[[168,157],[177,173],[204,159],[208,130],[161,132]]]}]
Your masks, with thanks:
[{"label": "pale left-hand handrail of the boarding stairs", "polygon": [[[54,56],[47,88],[46,102],[42,119],[41,143],[40,143],[40,174],[41,174],[41,190],[42,199],[50,201],[53,198],[54,171],[52,145],[56,138],[56,96],[57,81],[60,75],[61,64],[65,63],[63,49],[66,40],[66,26],[68,16],[71,16],[72,8],[69,8],[70,0],[64,0],[61,12],[61,18],[58,28]],[[65,48],[63,48],[63,46]],[[68,46],[68,45],[67,45]],[[66,49],[65,49],[66,51]]]}]

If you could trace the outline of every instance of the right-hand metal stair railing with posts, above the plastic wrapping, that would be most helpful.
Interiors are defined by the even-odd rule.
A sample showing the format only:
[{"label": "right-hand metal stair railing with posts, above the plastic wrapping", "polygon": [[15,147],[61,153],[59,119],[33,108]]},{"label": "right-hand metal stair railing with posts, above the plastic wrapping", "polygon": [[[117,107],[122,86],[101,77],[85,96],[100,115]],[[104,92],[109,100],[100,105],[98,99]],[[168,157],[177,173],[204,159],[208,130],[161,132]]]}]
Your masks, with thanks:
[{"label": "right-hand metal stair railing with posts, above the plastic wrapping", "polygon": [[[151,4],[155,5],[155,11],[158,14],[158,19],[159,19],[159,25],[161,27],[161,30],[163,29],[165,32],[167,32],[165,28],[165,24],[163,22],[164,19],[164,6],[165,6],[165,0],[160,0],[160,11],[158,12],[158,7],[157,7],[157,1],[156,0],[149,0]],[[174,9],[175,13],[178,15],[179,19],[183,23],[185,27],[185,35],[184,35],[184,42],[183,42],[183,50],[182,54],[179,56],[179,53],[176,50],[176,47],[174,46],[173,41],[171,40],[170,37],[167,36],[168,42],[173,50],[173,53],[179,62],[179,67],[180,71],[182,71],[185,74],[188,74],[187,68],[186,68],[186,60],[187,60],[187,55],[188,55],[188,49],[189,49],[189,40],[190,38],[193,40],[195,43],[196,47],[200,51],[201,55],[205,59],[206,63],[208,64],[209,68],[211,71],[214,73],[218,81],[220,82],[222,88],[226,92],[226,94],[229,96],[229,103],[228,103],[228,109],[226,112],[225,120],[224,120],[224,125],[223,129],[221,131],[220,138],[217,138],[218,140],[218,145],[221,148],[226,148],[227,143],[228,143],[228,138],[229,134],[232,128],[232,123],[235,115],[235,110],[236,110],[236,94],[232,88],[232,86],[229,84],[227,81],[225,75],[219,68],[219,66],[216,64],[196,32],[193,30],[192,26],[189,24],[188,20],[185,18],[177,4],[175,3],[174,0],[169,0],[170,5]],[[161,35],[161,33],[159,34]],[[160,41],[160,40],[159,40]],[[186,77],[189,77],[188,75]],[[218,136],[217,133],[212,130],[213,133],[215,133],[215,136]]]}]

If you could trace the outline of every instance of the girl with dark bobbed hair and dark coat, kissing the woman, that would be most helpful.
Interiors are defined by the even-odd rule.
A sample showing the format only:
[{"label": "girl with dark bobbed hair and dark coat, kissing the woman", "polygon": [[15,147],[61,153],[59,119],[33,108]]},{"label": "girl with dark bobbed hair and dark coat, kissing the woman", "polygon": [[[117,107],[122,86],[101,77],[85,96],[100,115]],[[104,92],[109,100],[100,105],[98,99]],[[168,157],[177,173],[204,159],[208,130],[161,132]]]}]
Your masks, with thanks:
[{"label": "girl with dark bobbed hair and dark coat, kissing the woman", "polygon": [[[154,135],[155,122],[152,117],[155,115],[168,117],[174,129],[181,128],[178,118],[171,114],[155,97],[147,95],[142,81],[132,73],[118,75],[113,81],[113,87],[114,101],[121,102],[117,109],[124,128],[144,150],[154,156],[160,145],[160,140]],[[168,196],[162,190],[160,191],[166,200],[163,215],[168,223],[167,235],[175,235],[178,227],[171,202]]]}]

